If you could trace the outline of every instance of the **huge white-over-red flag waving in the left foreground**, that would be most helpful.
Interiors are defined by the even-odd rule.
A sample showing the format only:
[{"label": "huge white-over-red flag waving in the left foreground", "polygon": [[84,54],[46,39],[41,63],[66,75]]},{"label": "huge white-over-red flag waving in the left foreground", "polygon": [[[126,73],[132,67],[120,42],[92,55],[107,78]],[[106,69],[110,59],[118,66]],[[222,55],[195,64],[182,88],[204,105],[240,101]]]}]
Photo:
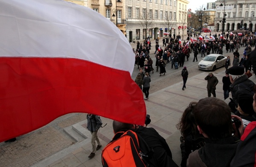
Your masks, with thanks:
[{"label": "huge white-over-red flag waving in the left foreground", "polygon": [[144,124],[134,53],[115,24],[62,0],[0,8],[0,142],[71,112]]}]

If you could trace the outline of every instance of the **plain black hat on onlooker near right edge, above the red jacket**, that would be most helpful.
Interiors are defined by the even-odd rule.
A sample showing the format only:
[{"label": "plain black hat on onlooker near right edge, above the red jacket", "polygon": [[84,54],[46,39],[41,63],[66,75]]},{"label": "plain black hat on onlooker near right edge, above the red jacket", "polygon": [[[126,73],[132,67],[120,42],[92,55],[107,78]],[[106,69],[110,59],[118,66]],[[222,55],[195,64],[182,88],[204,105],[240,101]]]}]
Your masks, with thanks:
[{"label": "plain black hat on onlooker near right edge, above the red jacket", "polygon": [[249,115],[255,114],[253,110],[253,93],[247,89],[240,89],[235,93],[235,98],[243,112]]}]

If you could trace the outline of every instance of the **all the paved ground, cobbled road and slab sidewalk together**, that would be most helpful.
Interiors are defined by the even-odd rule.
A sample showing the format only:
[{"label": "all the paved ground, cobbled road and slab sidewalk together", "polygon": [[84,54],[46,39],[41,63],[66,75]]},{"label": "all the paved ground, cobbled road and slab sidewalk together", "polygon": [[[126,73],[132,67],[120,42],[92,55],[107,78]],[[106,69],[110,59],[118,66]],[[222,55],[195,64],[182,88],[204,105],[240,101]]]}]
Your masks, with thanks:
[{"label": "all the paved ground, cobbled road and slab sidewalk together", "polygon": [[[218,35],[218,34],[217,34]],[[184,37],[185,39],[185,37]],[[140,41],[142,42],[142,41]],[[152,42],[154,49],[155,41]],[[161,43],[162,40],[159,40]],[[182,41],[183,42],[183,41]],[[131,43],[132,48],[136,44]],[[162,46],[162,45],[161,45]],[[153,50],[151,49],[151,52]],[[240,49],[240,55],[244,47]],[[233,54],[225,53],[233,58]],[[154,54],[150,54],[153,57]],[[182,78],[180,76],[182,68],[171,69],[171,64],[167,64],[167,73],[159,77],[159,73],[154,72],[151,75],[149,100],[145,101],[147,113],[150,114],[150,127],[155,128],[168,142],[173,153],[173,159],[180,164],[181,156],[179,149],[179,131],[175,127],[179,121],[184,109],[191,101],[198,101],[200,98],[207,97],[205,76],[207,71],[199,70],[198,62],[201,60],[198,55],[198,62],[192,62],[193,55],[189,61],[185,61],[189,75],[187,88],[182,91]],[[153,63],[154,64],[154,63]],[[221,79],[225,75],[225,69],[217,69],[214,75],[217,76],[219,84],[217,85],[216,95],[223,98]],[[138,74],[137,66],[134,67],[132,78]],[[255,82],[254,75],[251,79]],[[82,141],[75,141],[67,135],[63,129],[74,124],[85,127],[86,114],[73,113],[64,115],[50,124],[22,135],[13,143],[0,143],[0,164],[1,167],[97,167],[101,165],[100,151],[96,156],[88,159],[91,153],[90,135]],[[100,141],[103,147],[112,139],[112,120],[102,118],[107,126],[100,129]],[[103,147],[101,149],[103,149]]]}]

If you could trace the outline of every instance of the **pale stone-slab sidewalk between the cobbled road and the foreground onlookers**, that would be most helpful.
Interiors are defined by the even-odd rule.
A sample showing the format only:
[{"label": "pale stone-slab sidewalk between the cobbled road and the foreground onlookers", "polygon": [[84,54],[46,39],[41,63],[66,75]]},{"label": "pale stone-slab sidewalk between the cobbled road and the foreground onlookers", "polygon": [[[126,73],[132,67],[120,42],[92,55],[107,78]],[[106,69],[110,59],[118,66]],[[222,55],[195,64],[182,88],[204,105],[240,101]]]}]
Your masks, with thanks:
[{"label": "pale stone-slab sidewalk between the cobbled road and the foreground onlookers", "polygon": [[[178,123],[183,111],[191,101],[199,101],[201,98],[207,97],[206,81],[204,78],[208,72],[202,72],[199,75],[188,78],[186,89],[182,91],[182,82],[169,86],[165,89],[149,95],[149,99],[145,101],[147,106],[147,114],[150,115],[151,123],[149,127],[155,128],[160,135],[162,135],[173,154],[174,161],[179,165],[181,162],[181,152],[179,148],[180,132],[175,125]],[[222,91],[222,77],[225,71],[214,72],[218,78],[219,83],[216,88],[217,98],[223,98]],[[256,82],[254,75],[250,78]],[[231,96],[231,94],[230,94]],[[113,137],[112,120],[102,118],[106,127],[101,128],[99,132],[100,142],[103,145],[111,141]],[[86,122],[79,123],[85,127]],[[56,153],[43,161],[34,164],[32,167],[101,167],[101,151],[97,151],[94,158],[89,159],[88,155],[91,153],[90,134],[85,140],[74,144],[59,153]]]}]

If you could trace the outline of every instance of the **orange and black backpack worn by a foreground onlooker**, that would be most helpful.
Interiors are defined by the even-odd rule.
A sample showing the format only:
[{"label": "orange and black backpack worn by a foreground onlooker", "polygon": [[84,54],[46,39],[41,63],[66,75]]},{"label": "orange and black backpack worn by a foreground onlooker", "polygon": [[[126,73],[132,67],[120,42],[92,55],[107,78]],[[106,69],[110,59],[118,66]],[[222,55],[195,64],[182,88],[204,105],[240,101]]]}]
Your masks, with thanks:
[{"label": "orange and black backpack worn by a foreground onlooker", "polygon": [[103,167],[154,167],[153,150],[136,132],[118,132],[102,151]]}]

